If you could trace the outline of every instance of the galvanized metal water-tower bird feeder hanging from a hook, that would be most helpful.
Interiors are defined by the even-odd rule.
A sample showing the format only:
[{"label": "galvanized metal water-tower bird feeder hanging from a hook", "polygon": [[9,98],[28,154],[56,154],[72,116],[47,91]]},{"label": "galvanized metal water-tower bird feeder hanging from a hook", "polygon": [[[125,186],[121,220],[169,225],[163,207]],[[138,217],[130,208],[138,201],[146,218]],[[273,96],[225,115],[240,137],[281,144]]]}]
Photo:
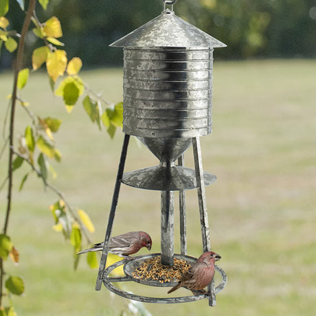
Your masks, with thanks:
[{"label": "galvanized metal water-tower bird feeder hanging from a hook", "polygon": [[[150,286],[176,284],[174,281],[161,284],[133,278],[135,261],[139,264],[158,254],[121,260],[105,269],[121,183],[161,191],[159,256],[161,263],[169,266],[174,264],[174,258],[184,258],[191,263],[196,260],[187,256],[185,225],[185,190],[196,189],[203,252],[211,251],[205,185],[213,183],[216,176],[203,172],[200,137],[212,130],[213,49],[226,45],[175,15],[172,9],[176,1],[163,0],[163,12],[159,16],[110,45],[124,48],[125,135],[95,289],[100,290],[103,283],[113,293],[131,300],[181,303],[207,298],[210,306],[214,306],[216,293],[227,282],[225,272],[218,266],[216,271],[222,280],[218,286],[214,286],[214,282],[210,284],[210,294],[163,298],[131,294],[113,285],[113,282],[125,281]],[[148,147],[159,159],[159,166],[124,172],[130,135],[138,137]],[[191,145],[195,170],[183,166],[183,153]],[[179,191],[180,254],[174,254],[174,191]],[[126,276],[109,277],[109,273],[122,264]]]}]

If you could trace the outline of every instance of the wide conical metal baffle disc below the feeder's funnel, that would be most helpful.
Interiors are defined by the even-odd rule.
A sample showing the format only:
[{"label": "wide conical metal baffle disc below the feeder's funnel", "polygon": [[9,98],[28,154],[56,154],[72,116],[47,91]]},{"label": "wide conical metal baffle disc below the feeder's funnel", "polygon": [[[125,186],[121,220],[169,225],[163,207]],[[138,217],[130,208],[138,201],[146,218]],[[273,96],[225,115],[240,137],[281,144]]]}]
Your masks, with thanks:
[{"label": "wide conical metal baffle disc below the feeder's funnel", "polygon": [[[216,176],[204,172],[204,183],[210,185]],[[122,183],[147,190],[179,191],[198,188],[195,171],[181,166],[153,166],[125,172]]]}]

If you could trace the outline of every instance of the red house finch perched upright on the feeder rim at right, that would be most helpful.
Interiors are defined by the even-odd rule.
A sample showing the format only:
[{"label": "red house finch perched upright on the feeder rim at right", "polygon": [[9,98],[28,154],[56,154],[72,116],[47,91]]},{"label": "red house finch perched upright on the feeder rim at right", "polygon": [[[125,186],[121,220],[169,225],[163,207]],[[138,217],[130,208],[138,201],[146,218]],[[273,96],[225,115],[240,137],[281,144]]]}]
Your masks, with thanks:
[{"label": "red house finch perched upright on the feeder rim at right", "polygon": [[221,256],[213,251],[203,253],[200,258],[192,264],[185,274],[182,275],[178,284],[174,285],[168,293],[176,291],[181,286],[189,289],[190,291],[201,291],[210,284],[214,278],[215,267],[214,263],[220,260]]}]

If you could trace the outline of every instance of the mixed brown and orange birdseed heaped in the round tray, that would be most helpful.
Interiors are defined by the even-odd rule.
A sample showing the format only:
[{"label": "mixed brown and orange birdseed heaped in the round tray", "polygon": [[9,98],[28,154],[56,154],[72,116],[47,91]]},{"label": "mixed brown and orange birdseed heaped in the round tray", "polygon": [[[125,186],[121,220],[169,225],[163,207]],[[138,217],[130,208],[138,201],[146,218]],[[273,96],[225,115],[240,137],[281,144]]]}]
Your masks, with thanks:
[{"label": "mixed brown and orange birdseed heaped in the round tray", "polygon": [[161,256],[157,256],[144,260],[139,266],[132,268],[131,274],[135,279],[167,283],[179,280],[188,271],[190,264],[183,259],[174,258],[174,265],[170,267],[161,264]]}]

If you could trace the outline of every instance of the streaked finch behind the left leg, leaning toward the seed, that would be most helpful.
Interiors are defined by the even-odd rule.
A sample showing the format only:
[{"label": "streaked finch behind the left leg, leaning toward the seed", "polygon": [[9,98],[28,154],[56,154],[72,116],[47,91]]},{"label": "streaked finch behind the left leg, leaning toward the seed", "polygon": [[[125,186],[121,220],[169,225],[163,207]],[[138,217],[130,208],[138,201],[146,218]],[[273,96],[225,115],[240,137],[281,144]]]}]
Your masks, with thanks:
[{"label": "streaked finch behind the left leg, leaning toward the seed", "polygon": [[[92,248],[78,252],[87,253],[91,251],[102,251],[103,243],[93,245]],[[128,257],[133,253],[137,253],[142,247],[146,247],[148,250],[151,249],[151,238],[145,232],[128,232],[119,236],[112,237],[109,242],[109,252],[114,253],[120,257]]]}]

